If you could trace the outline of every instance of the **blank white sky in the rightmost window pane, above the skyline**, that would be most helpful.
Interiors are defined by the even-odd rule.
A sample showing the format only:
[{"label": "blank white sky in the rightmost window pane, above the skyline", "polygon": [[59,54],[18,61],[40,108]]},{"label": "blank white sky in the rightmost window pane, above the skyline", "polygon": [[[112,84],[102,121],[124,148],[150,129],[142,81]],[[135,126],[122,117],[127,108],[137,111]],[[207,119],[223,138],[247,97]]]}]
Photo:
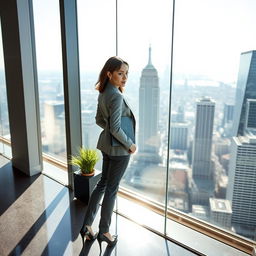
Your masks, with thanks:
[{"label": "blank white sky in the rightmost window pane, above the skyline", "polygon": [[240,53],[256,49],[256,1],[176,2],[177,69],[236,79]]}]

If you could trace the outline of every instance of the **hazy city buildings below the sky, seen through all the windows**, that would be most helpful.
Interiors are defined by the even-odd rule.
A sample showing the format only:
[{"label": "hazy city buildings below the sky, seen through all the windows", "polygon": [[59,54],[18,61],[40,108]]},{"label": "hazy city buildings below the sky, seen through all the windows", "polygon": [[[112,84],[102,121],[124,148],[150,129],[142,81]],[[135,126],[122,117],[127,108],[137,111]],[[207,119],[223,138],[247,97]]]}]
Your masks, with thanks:
[{"label": "hazy city buildings below the sky, seen through all the windows", "polygon": [[[124,92],[137,119],[138,150],[121,185],[164,204],[168,167],[168,207],[255,240],[256,51],[241,53],[236,83],[174,74],[169,100],[170,78],[159,77],[152,50]],[[81,73],[83,145],[89,148],[101,132],[94,119],[97,76]],[[0,135],[10,139],[4,71],[0,90]],[[39,72],[39,98],[43,152],[66,161],[60,72]]]}]

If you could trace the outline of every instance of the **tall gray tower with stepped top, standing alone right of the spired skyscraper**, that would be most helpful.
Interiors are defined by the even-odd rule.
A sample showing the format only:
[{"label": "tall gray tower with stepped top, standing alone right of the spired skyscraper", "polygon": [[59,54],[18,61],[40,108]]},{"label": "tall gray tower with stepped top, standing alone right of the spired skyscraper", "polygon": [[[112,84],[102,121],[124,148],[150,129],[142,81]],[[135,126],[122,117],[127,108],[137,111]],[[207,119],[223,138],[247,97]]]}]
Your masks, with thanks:
[{"label": "tall gray tower with stepped top, standing alone right of the spired skyscraper", "polygon": [[215,103],[202,98],[196,104],[196,125],[192,156],[193,178],[212,177],[211,152]]}]

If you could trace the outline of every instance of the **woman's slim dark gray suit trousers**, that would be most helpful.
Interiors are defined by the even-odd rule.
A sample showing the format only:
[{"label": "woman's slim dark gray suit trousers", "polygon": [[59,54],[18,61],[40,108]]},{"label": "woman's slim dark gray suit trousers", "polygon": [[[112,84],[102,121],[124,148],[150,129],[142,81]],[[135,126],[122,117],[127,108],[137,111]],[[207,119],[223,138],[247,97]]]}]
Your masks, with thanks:
[{"label": "woman's slim dark gray suit trousers", "polygon": [[99,202],[104,194],[101,207],[99,232],[109,232],[111,216],[115,204],[119,183],[128,166],[130,155],[110,156],[102,152],[102,176],[94,188],[84,218],[84,225],[91,226],[99,208]]}]

